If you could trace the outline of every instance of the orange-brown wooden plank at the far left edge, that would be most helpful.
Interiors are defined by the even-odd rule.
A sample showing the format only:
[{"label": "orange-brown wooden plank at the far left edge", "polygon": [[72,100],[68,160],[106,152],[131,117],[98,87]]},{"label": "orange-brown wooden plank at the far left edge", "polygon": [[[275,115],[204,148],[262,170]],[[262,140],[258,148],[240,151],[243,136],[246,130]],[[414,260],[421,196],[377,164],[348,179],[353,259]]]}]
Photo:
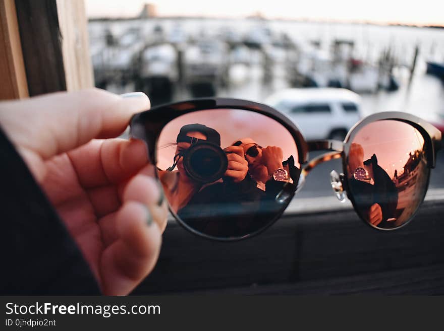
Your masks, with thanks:
[{"label": "orange-brown wooden plank at the far left edge", "polygon": [[0,0],[0,100],[29,96],[14,0]]}]

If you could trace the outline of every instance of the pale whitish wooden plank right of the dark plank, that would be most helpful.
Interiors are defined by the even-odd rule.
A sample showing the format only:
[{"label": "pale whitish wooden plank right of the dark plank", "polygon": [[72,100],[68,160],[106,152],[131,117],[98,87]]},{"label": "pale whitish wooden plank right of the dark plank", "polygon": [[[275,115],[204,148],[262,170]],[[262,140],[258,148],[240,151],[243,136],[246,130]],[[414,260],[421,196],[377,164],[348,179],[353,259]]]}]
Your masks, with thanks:
[{"label": "pale whitish wooden plank right of the dark plank", "polygon": [[68,91],[94,87],[83,0],[57,0]]}]

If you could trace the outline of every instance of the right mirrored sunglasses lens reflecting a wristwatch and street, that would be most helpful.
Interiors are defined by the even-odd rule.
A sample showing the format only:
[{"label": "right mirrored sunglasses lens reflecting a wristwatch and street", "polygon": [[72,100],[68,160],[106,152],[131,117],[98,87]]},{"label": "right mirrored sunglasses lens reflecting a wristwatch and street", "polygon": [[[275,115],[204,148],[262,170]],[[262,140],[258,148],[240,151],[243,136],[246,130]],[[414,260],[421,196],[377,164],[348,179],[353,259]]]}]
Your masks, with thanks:
[{"label": "right mirrored sunglasses lens reflecting a wristwatch and street", "polygon": [[347,178],[358,214],[379,229],[404,225],[427,190],[423,136],[408,123],[380,120],[362,127],[351,142]]}]

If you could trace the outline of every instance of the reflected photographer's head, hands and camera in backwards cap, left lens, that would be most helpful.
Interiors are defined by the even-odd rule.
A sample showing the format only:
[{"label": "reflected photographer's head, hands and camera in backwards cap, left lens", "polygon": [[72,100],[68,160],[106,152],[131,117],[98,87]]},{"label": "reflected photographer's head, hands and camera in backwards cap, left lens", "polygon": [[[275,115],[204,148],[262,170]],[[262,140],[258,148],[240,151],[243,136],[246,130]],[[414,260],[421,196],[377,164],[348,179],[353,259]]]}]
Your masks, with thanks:
[{"label": "reflected photographer's head, hands and camera in backwards cap, left lens", "polygon": [[[170,204],[177,212],[185,207],[202,187],[229,180],[241,182],[248,171],[240,147],[220,148],[220,135],[202,124],[182,126],[177,136],[173,165],[159,176]],[[178,168],[178,171],[174,169]]]}]

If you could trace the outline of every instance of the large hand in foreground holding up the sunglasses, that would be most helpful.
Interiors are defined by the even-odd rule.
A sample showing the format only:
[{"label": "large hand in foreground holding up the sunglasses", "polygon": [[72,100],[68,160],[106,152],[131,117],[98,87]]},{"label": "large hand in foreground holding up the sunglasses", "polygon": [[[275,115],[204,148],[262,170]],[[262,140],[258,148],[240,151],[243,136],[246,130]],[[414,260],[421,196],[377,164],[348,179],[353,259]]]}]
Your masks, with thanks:
[{"label": "large hand in foreground holding up the sunglasses", "polygon": [[128,294],[151,272],[167,221],[144,143],[106,139],[149,106],[143,93],[122,98],[97,89],[0,103],[5,133],[104,294]]}]

